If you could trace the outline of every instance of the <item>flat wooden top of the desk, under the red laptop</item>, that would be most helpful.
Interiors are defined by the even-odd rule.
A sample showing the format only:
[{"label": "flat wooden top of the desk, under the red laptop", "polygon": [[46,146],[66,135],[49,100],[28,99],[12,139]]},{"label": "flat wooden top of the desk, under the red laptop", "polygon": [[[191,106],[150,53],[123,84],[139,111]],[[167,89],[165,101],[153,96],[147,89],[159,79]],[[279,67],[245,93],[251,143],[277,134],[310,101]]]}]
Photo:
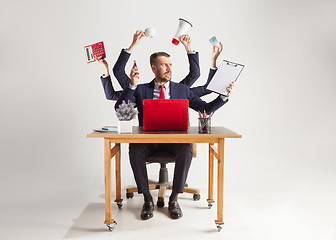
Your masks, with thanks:
[{"label": "flat wooden top of the desk, under the red laptop", "polygon": [[118,132],[92,132],[86,135],[88,138],[110,139],[189,139],[202,141],[216,138],[241,138],[242,136],[225,127],[211,127],[211,133],[198,133],[198,127],[189,127],[188,131],[144,131],[142,127],[134,126],[132,133]]}]

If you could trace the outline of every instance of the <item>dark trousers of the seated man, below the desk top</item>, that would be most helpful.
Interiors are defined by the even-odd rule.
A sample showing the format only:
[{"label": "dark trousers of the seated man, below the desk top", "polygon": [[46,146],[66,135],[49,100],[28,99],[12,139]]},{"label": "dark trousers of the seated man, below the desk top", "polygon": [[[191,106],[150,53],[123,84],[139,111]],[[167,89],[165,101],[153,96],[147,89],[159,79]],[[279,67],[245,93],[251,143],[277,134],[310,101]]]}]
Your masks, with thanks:
[{"label": "dark trousers of the seated man, below the desk top", "polygon": [[130,143],[129,157],[138,193],[149,191],[146,159],[157,151],[168,151],[175,156],[173,191],[183,193],[192,159],[190,143]]}]

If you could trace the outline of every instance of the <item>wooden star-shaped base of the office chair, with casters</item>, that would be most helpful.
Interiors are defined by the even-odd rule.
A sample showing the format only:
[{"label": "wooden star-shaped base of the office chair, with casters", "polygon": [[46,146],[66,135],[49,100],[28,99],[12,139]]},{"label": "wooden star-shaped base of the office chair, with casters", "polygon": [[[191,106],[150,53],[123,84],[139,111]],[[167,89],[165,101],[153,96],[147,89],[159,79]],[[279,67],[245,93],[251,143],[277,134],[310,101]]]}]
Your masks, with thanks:
[{"label": "wooden star-shaped base of the office chair, with casters", "polygon": [[[164,197],[166,195],[166,190],[172,190],[173,183],[172,182],[165,182],[165,183],[159,183],[156,181],[149,180],[149,190],[159,190],[158,194],[158,201],[157,206],[159,208],[164,207]],[[137,188],[127,188],[126,189],[126,198],[133,198],[134,193],[138,192]],[[186,187],[184,188],[185,193],[193,194],[194,201],[198,201],[201,199],[200,190],[196,188],[190,188],[188,187],[188,184],[186,184]]]}]

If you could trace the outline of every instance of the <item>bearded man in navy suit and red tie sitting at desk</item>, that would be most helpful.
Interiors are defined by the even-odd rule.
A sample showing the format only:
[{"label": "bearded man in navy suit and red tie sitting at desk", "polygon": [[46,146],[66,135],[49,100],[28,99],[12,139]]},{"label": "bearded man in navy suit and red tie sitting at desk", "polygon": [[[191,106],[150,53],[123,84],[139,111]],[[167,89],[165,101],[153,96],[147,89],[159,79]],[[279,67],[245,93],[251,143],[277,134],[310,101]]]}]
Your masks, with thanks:
[{"label": "bearded man in navy suit and red tie sitting at desk", "polygon": [[[216,62],[222,48],[213,49],[213,62]],[[151,69],[155,78],[145,84],[138,84],[139,70],[134,64],[130,73],[130,85],[123,90],[119,97],[115,108],[121,102],[132,101],[136,103],[139,111],[139,125],[143,125],[143,100],[144,99],[188,99],[189,107],[208,114],[216,111],[223,106],[227,101],[227,96],[218,96],[215,100],[206,103],[200,97],[193,94],[188,86],[181,83],[171,81],[172,63],[170,55],[165,52],[156,52],[150,56]],[[124,66],[116,64],[116,71],[122,71]],[[121,69],[120,69],[121,68]],[[212,77],[216,69],[210,69],[209,76]],[[230,93],[234,85],[231,84],[227,88]],[[189,143],[131,143],[129,144],[129,157],[133,170],[134,178],[137,184],[138,193],[144,196],[144,204],[141,210],[141,218],[143,220],[153,217],[154,203],[149,192],[148,175],[146,169],[146,159],[156,151],[169,151],[175,156],[175,169],[173,179],[173,189],[169,197],[168,210],[169,215],[173,219],[178,219],[183,216],[182,210],[178,203],[178,194],[183,193],[185,182],[187,179],[189,167],[192,159],[192,147]]]}]

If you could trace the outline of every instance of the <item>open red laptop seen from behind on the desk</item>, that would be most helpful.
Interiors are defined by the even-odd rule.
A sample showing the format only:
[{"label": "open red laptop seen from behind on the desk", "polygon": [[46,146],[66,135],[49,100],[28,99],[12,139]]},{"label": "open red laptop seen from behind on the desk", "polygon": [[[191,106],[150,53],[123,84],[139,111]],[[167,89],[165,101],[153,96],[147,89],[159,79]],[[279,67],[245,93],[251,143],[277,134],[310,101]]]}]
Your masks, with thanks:
[{"label": "open red laptop seen from behind on the desk", "polygon": [[144,99],[144,130],[188,130],[188,99]]}]

